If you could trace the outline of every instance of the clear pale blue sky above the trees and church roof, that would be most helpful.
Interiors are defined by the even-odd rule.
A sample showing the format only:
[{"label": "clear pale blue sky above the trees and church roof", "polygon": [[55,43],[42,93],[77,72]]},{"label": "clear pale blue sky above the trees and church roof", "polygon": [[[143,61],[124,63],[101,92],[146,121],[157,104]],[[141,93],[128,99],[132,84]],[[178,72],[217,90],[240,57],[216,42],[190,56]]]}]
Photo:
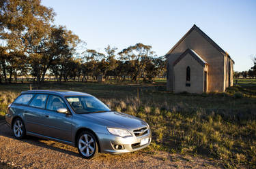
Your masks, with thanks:
[{"label": "clear pale blue sky above the trees and church roof", "polygon": [[252,0],[42,0],[66,26],[104,52],[136,43],[152,45],[163,56],[196,24],[235,61],[234,71],[248,71],[256,56],[256,1]]}]

